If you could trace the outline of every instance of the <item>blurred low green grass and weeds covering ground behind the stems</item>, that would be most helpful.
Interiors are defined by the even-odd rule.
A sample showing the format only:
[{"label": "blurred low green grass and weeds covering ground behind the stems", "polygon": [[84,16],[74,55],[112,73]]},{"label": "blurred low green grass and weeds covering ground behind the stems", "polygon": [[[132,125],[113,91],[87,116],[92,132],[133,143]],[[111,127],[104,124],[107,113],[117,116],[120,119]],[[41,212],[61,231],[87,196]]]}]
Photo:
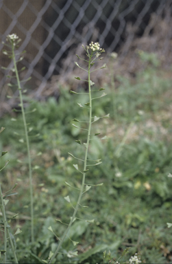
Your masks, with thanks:
[{"label": "blurred low green grass and weeds covering ground behind the stems", "polygon": [[[82,205],[89,208],[81,208],[78,212],[78,217],[82,218],[84,214],[85,219],[95,219],[95,223],[78,221],[73,224],[70,237],[74,241],[79,239],[79,255],[73,258],[66,255],[69,250],[74,250],[72,243],[66,240],[60,251],[64,254],[58,256],[58,263],[103,263],[104,250],[110,250],[112,258],[118,259],[127,247],[130,251],[123,261],[135,252],[140,253],[143,263],[170,263],[172,260],[171,229],[167,228],[167,222],[172,219],[172,181],[167,177],[172,172],[171,80],[153,67],[147,67],[132,83],[120,76],[117,79],[115,108],[113,91],[108,85],[105,85],[107,98],[93,105],[93,115],[110,112],[112,117],[95,124],[95,131],[102,131],[102,136],[108,134],[109,139],[95,141],[89,153],[90,159],[96,155],[102,158],[103,164],[90,168],[88,181],[91,184],[103,182],[103,186],[91,188],[86,193]],[[79,119],[79,115],[83,120],[83,113],[73,105],[85,101],[82,96],[70,95],[66,89],[61,89],[60,93],[58,102],[54,98],[47,102],[33,100],[30,109],[37,111],[27,116],[27,122],[33,127],[31,135],[40,133],[39,137],[32,137],[30,146],[32,164],[36,166],[33,173],[34,244],[29,241],[27,221],[27,153],[19,142],[23,134],[21,115],[13,117],[16,121],[9,115],[1,119],[5,133],[1,133],[0,146],[3,151],[8,151],[1,159],[1,166],[4,159],[10,159],[1,174],[3,190],[18,183],[19,194],[10,199],[6,210],[8,217],[10,212],[19,213],[19,217],[10,223],[14,230],[19,227],[23,231],[16,239],[19,263],[42,263],[49,251],[56,249],[58,241],[48,228],[51,225],[59,236],[62,235],[64,227],[55,219],[65,223],[72,212],[63,197],[70,195],[74,203],[77,199],[77,194],[69,190],[64,181],[75,182],[80,187],[80,175],[75,173],[73,160],[67,153],[82,155],[75,140],[83,139],[85,135],[71,126],[71,120]],[[130,131],[127,131],[129,126]],[[20,136],[14,135],[13,131]],[[125,141],[120,145],[123,137]]]}]

